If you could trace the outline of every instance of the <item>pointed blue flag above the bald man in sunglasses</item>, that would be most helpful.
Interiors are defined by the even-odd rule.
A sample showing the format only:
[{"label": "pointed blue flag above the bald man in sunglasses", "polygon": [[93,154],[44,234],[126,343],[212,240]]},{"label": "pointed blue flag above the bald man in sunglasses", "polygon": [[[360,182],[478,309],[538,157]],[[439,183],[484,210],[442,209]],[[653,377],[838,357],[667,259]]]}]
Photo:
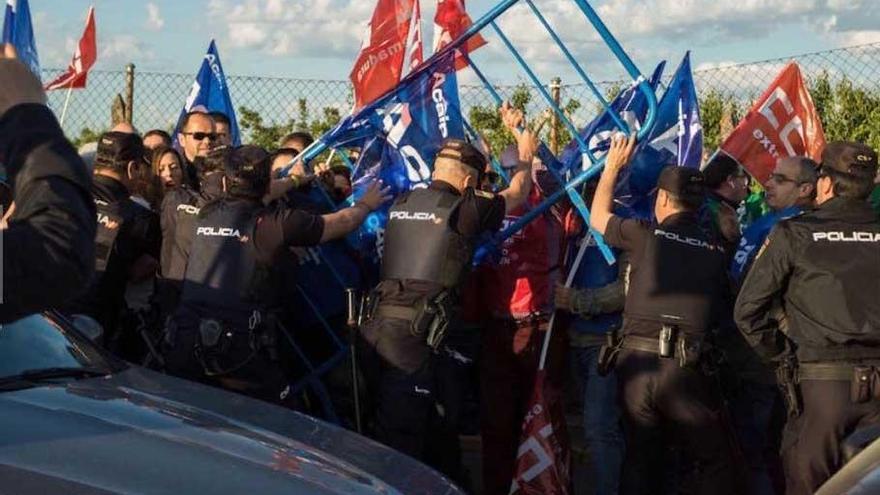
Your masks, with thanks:
[{"label": "pointed blue flag above the bald man in sunglasses", "polygon": [[180,132],[180,124],[183,117],[196,107],[204,107],[209,112],[223,112],[229,117],[229,132],[234,146],[241,145],[241,135],[238,131],[238,119],[235,118],[235,107],[232,98],[229,97],[229,87],[226,85],[226,75],[220,64],[220,54],[214,40],[208,45],[208,52],[202,60],[196,80],[193,81],[192,89],[186,98],[186,104],[177,119],[177,128],[174,130],[174,141],[177,142],[177,133]]}]

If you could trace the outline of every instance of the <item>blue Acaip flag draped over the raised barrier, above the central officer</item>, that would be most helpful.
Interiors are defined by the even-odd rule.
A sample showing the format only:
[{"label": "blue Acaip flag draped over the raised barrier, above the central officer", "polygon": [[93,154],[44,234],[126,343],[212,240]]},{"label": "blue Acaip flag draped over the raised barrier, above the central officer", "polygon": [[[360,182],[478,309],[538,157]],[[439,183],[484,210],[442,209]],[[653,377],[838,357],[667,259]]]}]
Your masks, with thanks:
[{"label": "blue Acaip flag draped over the raised barrier, above the central officer", "polygon": [[[378,178],[397,196],[431,181],[434,156],[445,138],[464,139],[454,53],[408,75],[390,93],[343,120],[323,140],[331,147],[358,146],[355,198],[365,178]],[[364,252],[381,239],[387,207],[371,214],[349,239]]]}]

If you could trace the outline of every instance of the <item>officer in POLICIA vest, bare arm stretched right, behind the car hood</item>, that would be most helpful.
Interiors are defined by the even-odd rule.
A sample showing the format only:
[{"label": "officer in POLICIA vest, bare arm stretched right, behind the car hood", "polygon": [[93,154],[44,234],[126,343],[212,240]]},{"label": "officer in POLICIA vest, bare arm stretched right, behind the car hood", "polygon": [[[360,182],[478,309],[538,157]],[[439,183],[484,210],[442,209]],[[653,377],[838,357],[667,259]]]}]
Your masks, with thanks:
[{"label": "officer in POLICIA vest, bare arm stretched right, behind the car hood", "polygon": [[291,404],[276,353],[268,272],[288,246],[312,246],[357,228],[385,201],[373,184],[354,206],[317,216],[265,207],[269,155],[256,146],[220,148],[225,195],[201,208],[187,258],[180,306],[168,328],[171,373]]}]

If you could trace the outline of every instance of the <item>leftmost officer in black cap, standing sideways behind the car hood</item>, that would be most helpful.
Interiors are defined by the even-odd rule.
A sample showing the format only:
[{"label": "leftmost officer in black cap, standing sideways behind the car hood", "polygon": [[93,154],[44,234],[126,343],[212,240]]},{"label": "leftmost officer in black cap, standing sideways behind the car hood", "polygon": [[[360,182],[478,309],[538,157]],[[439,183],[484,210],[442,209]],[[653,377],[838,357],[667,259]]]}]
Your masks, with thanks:
[{"label": "leftmost officer in black cap, standing sideways behind the car hood", "polygon": [[131,199],[128,183],[139,174],[144,148],[140,136],[107,132],[98,139],[92,186],[98,211],[95,278],[86,294],[69,309],[83,312],[104,327],[104,344],[126,359],[139,349],[140,336],[124,335],[120,316],[125,288],[136,266],[159,263],[159,217]]}]

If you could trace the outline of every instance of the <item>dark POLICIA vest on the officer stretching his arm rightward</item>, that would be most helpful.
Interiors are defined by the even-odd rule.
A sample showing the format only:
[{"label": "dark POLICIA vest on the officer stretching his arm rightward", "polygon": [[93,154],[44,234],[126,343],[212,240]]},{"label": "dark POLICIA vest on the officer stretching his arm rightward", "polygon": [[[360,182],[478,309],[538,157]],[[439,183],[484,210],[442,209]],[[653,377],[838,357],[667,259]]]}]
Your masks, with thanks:
[{"label": "dark POLICIA vest on the officer stretching his arm rightward", "polygon": [[253,233],[258,203],[219,200],[202,208],[181,294],[181,307],[230,324],[247,324],[263,309],[266,267],[257,260]]}]

